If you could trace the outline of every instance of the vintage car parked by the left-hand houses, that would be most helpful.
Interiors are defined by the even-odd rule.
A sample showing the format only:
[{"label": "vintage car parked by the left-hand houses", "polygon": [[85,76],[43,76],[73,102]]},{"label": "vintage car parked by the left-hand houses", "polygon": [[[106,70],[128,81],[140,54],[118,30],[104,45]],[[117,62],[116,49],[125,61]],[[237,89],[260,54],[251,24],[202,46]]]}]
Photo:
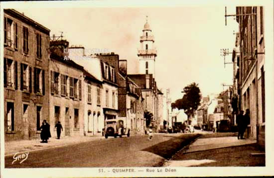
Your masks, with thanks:
[{"label": "vintage car parked by the left-hand houses", "polygon": [[122,137],[123,135],[130,136],[130,129],[124,127],[124,121],[118,120],[118,119],[109,119],[106,120],[105,123],[105,138],[108,138],[109,136]]}]

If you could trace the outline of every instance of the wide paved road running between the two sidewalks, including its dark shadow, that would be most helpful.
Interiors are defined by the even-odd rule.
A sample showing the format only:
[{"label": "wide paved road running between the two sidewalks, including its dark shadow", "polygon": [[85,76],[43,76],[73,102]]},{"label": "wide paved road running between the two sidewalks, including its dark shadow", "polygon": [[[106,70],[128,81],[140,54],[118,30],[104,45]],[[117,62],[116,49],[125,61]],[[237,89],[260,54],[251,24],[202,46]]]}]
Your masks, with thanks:
[{"label": "wide paved road running between the two sidewalks, including its dark shadow", "polygon": [[[13,157],[6,157],[5,167],[152,167],[170,157],[170,151],[178,151],[186,137],[190,137],[189,134],[157,134],[153,136],[152,141],[148,141],[146,135],[96,140],[29,152],[28,158],[21,164],[19,162],[22,159],[12,164]],[[163,151],[160,152],[159,148]],[[166,149],[169,151],[166,152]]]}]

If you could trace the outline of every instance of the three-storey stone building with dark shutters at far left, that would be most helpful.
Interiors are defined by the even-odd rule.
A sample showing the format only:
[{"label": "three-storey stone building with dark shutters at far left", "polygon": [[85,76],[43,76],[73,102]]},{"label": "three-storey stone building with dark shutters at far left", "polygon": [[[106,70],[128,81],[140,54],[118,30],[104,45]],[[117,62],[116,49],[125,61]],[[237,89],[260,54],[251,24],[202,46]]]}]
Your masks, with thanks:
[{"label": "three-storey stone building with dark shutters at far left", "polygon": [[5,141],[40,137],[48,120],[50,30],[14,9],[4,9]]}]

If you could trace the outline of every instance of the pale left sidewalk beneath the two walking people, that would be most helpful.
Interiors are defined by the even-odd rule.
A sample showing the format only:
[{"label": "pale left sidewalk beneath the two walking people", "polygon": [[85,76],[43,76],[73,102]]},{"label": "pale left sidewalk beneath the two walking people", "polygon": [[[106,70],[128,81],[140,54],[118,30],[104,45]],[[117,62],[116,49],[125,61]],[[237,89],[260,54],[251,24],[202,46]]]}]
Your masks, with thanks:
[{"label": "pale left sidewalk beneath the two walking people", "polygon": [[5,156],[12,156],[18,152],[30,152],[43,150],[53,147],[61,147],[70,144],[77,144],[82,142],[88,142],[92,140],[105,139],[103,136],[65,136],[60,140],[56,137],[51,137],[48,143],[40,143],[40,139],[35,140],[18,140],[5,142]]}]

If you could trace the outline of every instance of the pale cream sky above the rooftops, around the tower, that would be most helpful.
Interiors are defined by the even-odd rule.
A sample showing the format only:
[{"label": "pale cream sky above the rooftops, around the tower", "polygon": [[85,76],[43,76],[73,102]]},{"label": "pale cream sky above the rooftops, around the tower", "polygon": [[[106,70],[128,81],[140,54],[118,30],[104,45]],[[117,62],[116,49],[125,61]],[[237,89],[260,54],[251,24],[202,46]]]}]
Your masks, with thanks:
[{"label": "pale cream sky above the rooftops, around the tower", "polygon": [[[71,45],[87,51],[107,50],[128,61],[128,73],[138,73],[139,37],[148,16],[157,49],[155,78],[157,86],[172,101],[183,96],[187,85],[198,84],[203,96],[219,93],[222,84],[232,85],[232,65],[224,68],[221,48],[235,47],[238,23],[233,17],[225,25],[225,5],[179,7],[82,7],[15,8],[51,30]],[[235,14],[228,6],[227,13]],[[226,56],[231,62],[232,56]]]}]

